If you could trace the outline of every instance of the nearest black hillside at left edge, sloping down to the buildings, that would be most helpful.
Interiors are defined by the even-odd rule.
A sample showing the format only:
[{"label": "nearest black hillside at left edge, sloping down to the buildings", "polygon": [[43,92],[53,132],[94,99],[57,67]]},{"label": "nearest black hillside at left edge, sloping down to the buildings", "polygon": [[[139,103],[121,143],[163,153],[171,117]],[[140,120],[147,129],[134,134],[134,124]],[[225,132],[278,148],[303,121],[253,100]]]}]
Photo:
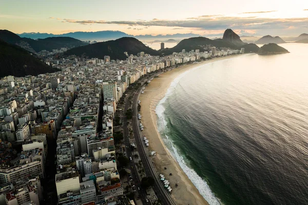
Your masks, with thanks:
[{"label": "nearest black hillside at left edge, sloping down to the buildings", "polygon": [[21,47],[0,40],[0,77],[23,77],[56,71],[57,69],[48,66]]}]

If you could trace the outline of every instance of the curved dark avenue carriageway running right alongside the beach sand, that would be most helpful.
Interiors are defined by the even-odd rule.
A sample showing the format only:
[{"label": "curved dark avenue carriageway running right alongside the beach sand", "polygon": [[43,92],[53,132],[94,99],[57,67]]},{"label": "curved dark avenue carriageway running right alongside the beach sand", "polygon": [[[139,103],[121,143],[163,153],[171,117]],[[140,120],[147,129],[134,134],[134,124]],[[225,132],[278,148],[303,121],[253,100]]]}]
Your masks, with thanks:
[{"label": "curved dark avenue carriageway running right alongside the beach sand", "polygon": [[[158,75],[160,73],[162,73],[162,72],[153,74],[153,75],[149,76],[146,80],[149,80],[153,76]],[[155,179],[156,183],[153,186],[153,190],[155,190],[157,197],[159,199],[161,199],[162,204],[176,204],[176,202],[172,199],[170,194],[164,189],[163,184],[161,183],[161,181],[159,179],[159,176],[156,172],[156,169],[153,166],[151,159],[149,158],[147,147],[143,143],[142,132],[139,128],[139,122],[138,122],[138,118],[137,118],[138,99],[139,99],[140,92],[141,92],[143,85],[144,85],[146,80],[141,82],[140,88],[138,89],[138,91],[136,93],[133,94],[133,102],[132,102],[132,110],[133,110],[132,128],[133,128],[133,133],[134,133],[134,137],[136,139],[137,149],[138,149],[140,158],[142,160],[142,164],[143,164],[145,173],[146,173],[147,176],[151,176],[151,177],[153,177],[153,179]]]}]

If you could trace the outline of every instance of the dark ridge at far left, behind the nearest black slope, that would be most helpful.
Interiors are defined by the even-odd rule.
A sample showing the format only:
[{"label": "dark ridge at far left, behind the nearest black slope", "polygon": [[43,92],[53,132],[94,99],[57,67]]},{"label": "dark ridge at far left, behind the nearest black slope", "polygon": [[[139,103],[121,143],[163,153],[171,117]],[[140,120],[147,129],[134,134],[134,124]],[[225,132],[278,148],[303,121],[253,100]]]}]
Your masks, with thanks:
[{"label": "dark ridge at far left, behind the nearest black slope", "polygon": [[88,45],[88,43],[71,37],[48,37],[44,39],[22,38],[8,30],[0,30],[0,39],[13,45],[20,46],[30,52],[40,52],[42,50],[52,51],[52,49],[74,48]]}]

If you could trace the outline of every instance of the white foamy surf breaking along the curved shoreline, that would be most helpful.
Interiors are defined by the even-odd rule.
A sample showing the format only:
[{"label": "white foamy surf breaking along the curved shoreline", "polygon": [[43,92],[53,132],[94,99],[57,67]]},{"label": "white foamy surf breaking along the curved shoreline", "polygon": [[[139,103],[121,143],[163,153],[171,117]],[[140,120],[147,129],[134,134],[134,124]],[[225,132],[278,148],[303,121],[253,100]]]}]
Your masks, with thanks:
[{"label": "white foamy surf breaking along the curved shoreline", "polygon": [[[165,113],[165,107],[163,104],[167,100],[167,98],[172,94],[173,91],[175,91],[179,81],[184,77],[188,72],[192,70],[199,69],[202,66],[190,69],[182,74],[180,74],[177,78],[175,78],[172,83],[170,84],[170,87],[168,88],[166,95],[164,98],[162,98],[159,101],[159,104],[157,105],[155,112],[158,116],[158,129],[161,133],[164,132],[167,121],[165,120],[164,113]],[[166,139],[164,140],[166,147],[168,148],[168,152],[171,154],[172,157],[174,157],[184,173],[188,176],[188,178],[191,180],[191,182],[196,186],[196,188],[199,190],[200,194],[203,196],[203,198],[210,204],[210,205],[219,205],[221,202],[218,198],[215,197],[214,193],[210,190],[209,186],[207,185],[206,181],[203,180],[195,170],[190,169],[186,162],[184,161],[183,157],[180,156],[179,152],[177,151],[176,147],[172,144],[172,141],[169,139],[167,135],[165,135]],[[169,150],[171,148],[172,150]]]}]

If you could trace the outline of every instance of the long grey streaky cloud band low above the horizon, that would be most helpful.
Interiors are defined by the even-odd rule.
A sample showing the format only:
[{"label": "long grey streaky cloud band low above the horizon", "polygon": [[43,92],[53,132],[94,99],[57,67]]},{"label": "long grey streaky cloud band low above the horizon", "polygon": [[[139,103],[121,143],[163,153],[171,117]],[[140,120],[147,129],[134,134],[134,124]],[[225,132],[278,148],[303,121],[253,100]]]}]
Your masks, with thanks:
[{"label": "long grey streaky cloud band low above the horizon", "polygon": [[[262,11],[265,12],[265,11]],[[269,11],[267,11],[269,12]],[[174,27],[174,30],[190,29],[195,31],[221,31],[226,28],[243,31],[257,31],[257,30],[276,30],[284,32],[287,29],[302,28],[308,29],[308,17],[301,18],[265,18],[257,16],[223,16],[223,15],[203,15],[182,20],[166,20],[154,18],[152,20],[119,20],[119,21],[106,21],[106,20],[76,20],[76,19],[63,19],[62,22],[70,24],[113,24],[125,25],[130,28],[133,26],[142,26],[143,28],[149,26],[160,27]],[[138,28],[134,29],[138,30]],[[139,29],[141,30],[141,29]],[[200,33],[199,32],[199,33]],[[301,31],[300,31],[301,32]],[[264,31],[264,33],[267,33]]]}]

